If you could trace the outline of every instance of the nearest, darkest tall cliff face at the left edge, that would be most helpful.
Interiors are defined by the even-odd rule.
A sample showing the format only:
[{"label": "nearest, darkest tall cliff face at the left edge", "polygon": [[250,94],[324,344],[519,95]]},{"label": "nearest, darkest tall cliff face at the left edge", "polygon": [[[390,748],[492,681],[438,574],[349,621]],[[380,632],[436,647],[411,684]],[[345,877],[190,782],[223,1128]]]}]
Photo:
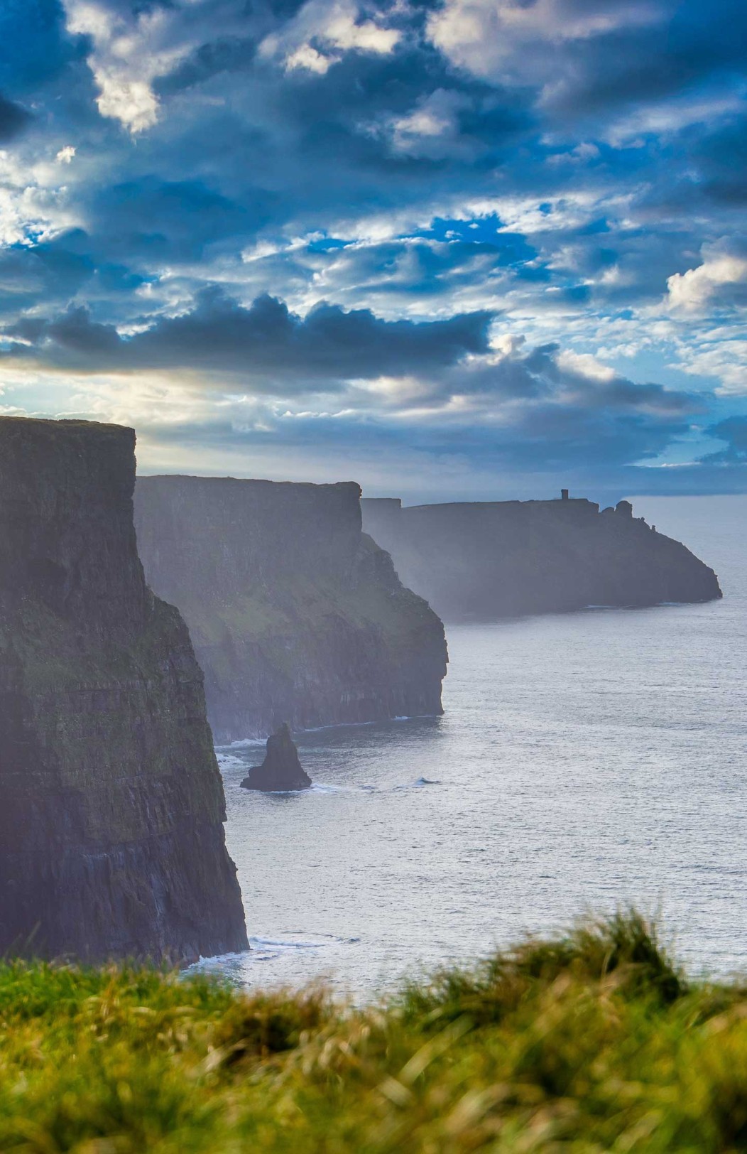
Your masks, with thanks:
[{"label": "nearest, darkest tall cliff face at the left edge", "polygon": [[135,435],[0,418],[0,950],[247,947],[202,674],[145,585]]}]

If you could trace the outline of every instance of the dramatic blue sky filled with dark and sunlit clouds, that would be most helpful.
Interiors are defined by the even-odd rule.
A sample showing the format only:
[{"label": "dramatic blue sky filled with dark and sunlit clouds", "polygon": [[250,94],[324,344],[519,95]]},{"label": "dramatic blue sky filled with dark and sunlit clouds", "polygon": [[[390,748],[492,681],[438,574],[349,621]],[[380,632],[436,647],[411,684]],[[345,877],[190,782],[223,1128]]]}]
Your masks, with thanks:
[{"label": "dramatic blue sky filled with dark and sunlit clouds", "polygon": [[1,0],[0,413],[413,501],[747,490],[744,0]]}]

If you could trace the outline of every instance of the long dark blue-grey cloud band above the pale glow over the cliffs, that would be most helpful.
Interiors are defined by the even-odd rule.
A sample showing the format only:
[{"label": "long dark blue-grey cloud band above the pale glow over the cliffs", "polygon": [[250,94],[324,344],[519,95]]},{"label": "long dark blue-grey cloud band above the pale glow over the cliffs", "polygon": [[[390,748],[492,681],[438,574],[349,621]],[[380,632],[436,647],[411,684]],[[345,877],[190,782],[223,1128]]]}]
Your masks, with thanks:
[{"label": "long dark blue-grey cloud band above the pale glow over the cliffs", "polygon": [[312,381],[319,390],[355,377],[442,369],[486,351],[490,320],[489,313],[471,313],[430,323],[382,321],[367,309],[346,313],[332,305],[317,305],[302,319],[272,297],[243,308],[210,288],[190,313],[161,319],[127,339],[81,307],[31,332],[21,322],[8,336],[31,339],[33,350],[16,346],[7,355],[81,372],[240,374],[284,395],[301,382]]}]

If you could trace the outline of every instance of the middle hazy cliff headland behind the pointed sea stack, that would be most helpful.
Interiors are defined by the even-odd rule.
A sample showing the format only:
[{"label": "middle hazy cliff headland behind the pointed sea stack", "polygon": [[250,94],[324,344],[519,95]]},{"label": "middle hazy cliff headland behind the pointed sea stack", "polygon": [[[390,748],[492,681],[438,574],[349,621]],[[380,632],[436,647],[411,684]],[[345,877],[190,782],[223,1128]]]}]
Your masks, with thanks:
[{"label": "middle hazy cliff headland behind the pointed sea stack", "polygon": [[135,510],[218,741],[440,713],[444,627],[361,532],[357,485],[146,477]]}]

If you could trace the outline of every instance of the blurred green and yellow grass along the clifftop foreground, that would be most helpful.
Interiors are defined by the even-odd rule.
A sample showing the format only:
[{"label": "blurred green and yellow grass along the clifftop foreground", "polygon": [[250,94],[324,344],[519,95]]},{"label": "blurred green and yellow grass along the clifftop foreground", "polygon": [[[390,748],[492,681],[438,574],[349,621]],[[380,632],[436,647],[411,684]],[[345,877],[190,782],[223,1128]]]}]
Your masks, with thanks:
[{"label": "blurred green and yellow grass along the clifftop foreground", "polygon": [[367,1009],[7,964],[0,1149],[744,1151],[747,988],[688,984],[635,914]]}]

